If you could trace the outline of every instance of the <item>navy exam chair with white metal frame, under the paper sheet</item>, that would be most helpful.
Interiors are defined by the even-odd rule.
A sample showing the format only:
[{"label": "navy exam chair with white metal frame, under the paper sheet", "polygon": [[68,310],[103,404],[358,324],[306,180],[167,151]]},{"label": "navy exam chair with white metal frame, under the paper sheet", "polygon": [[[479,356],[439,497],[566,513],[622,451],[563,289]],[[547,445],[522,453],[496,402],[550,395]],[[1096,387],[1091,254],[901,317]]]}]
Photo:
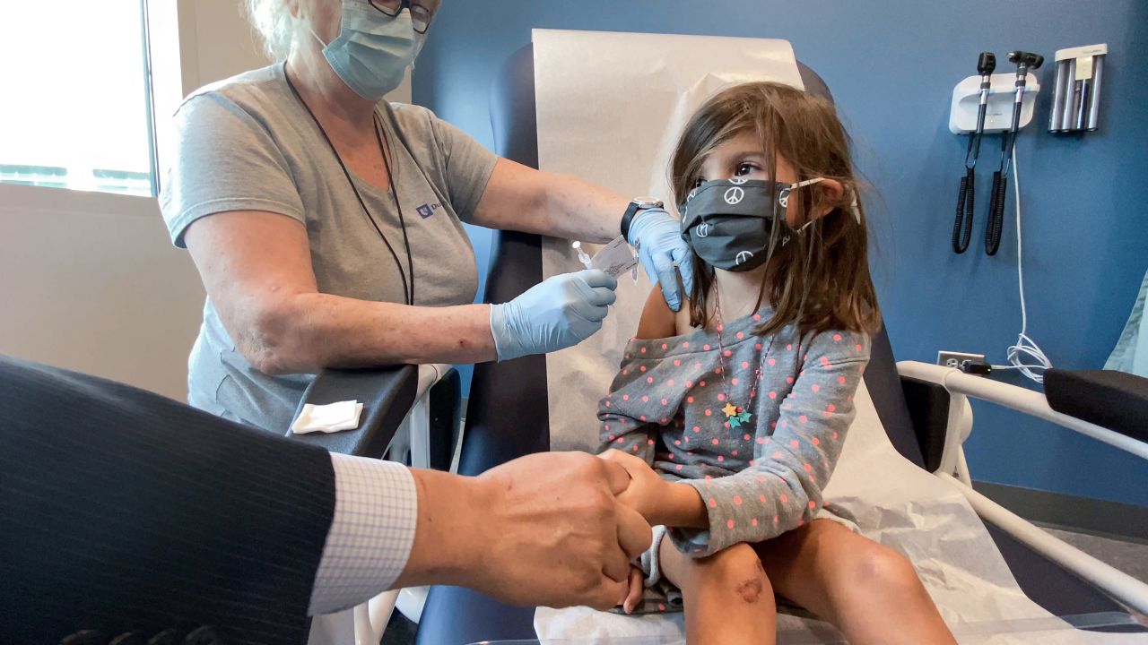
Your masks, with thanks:
[{"label": "navy exam chair with white metal frame, under the paper sheet", "polygon": [[[806,90],[831,99],[824,81],[798,63]],[[533,47],[512,54],[497,75],[490,96],[496,151],[537,168]],[[537,235],[496,232],[484,301],[506,302],[544,278]],[[1125,383],[1126,421],[1102,428],[1088,418],[1053,410],[1045,396],[921,363],[895,363],[883,329],[874,337],[864,383],[893,446],[913,464],[961,487],[992,535],[1017,583],[1049,613],[1068,616],[1083,629],[1145,632],[1125,604],[1148,612],[1148,585],[1049,536],[972,490],[961,442],[971,430],[972,396],[1050,420],[1148,458],[1138,420],[1148,418],[1148,381]],[[1063,379],[1062,379],[1063,378]],[[1100,387],[1096,374],[1052,373],[1056,381]],[[507,386],[513,387],[507,387]],[[507,460],[550,449],[546,359],[528,356],[476,365],[467,406],[459,474],[476,475]],[[1085,399],[1087,397],[1084,397]],[[1063,398],[1062,398],[1063,401]],[[1063,410],[1063,405],[1061,406]],[[1087,407],[1087,406],[1085,406]],[[1128,422],[1127,419],[1132,421]],[[1093,421],[1099,419],[1093,418]],[[1110,421],[1110,419],[1109,419]],[[1125,434],[1122,434],[1125,433]],[[1140,433],[1139,438],[1137,433]],[[540,572],[541,574],[541,572]],[[1117,598],[1119,600],[1117,600]],[[1122,604],[1123,603],[1123,604]],[[1103,616],[1079,621],[1071,616]],[[1102,624],[1097,624],[1102,623]],[[420,645],[461,645],[480,640],[534,639],[534,607],[513,607],[461,588],[432,588],[419,621]]]}]

